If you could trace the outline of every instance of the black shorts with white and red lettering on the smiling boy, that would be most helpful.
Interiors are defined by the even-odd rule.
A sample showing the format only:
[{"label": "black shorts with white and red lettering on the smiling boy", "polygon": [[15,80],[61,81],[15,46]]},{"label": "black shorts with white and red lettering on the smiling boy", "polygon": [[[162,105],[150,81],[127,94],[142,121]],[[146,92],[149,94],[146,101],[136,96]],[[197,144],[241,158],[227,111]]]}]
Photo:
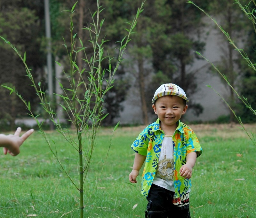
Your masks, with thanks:
[{"label": "black shorts with white and red lettering on the smiling boy", "polygon": [[174,192],[152,184],[148,193],[146,218],[191,218],[189,213],[189,193],[173,199]]}]

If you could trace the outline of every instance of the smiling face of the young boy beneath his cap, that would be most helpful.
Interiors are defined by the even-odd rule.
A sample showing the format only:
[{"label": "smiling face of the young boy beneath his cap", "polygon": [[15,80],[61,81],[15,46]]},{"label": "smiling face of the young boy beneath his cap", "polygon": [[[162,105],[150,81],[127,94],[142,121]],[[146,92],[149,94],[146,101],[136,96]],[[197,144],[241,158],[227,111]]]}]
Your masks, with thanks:
[{"label": "smiling face of the young boy beneath his cap", "polygon": [[161,121],[161,125],[174,127],[181,115],[186,113],[188,105],[184,105],[181,97],[166,95],[158,98],[152,107]]}]

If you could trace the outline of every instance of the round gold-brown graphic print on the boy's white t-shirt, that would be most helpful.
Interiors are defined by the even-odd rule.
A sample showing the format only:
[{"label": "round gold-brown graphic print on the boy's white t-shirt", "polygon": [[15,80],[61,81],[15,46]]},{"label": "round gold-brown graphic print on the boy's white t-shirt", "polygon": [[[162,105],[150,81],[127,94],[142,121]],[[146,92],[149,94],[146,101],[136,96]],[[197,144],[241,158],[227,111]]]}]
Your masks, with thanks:
[{"label": "round gold-brown graphic print on the boy's white t-shirt", "polygon": [[172,159],[164,159],[158,162],[156,173],[164,180],[173,181],[174,164]]}]

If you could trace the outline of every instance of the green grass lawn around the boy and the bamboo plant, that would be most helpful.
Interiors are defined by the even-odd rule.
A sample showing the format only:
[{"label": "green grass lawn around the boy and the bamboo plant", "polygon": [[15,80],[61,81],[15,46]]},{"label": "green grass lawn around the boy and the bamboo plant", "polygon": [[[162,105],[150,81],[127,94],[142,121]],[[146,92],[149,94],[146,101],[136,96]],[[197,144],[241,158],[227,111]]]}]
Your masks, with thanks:
[{"label": "green grass lawn around the boy and the bamboo plant", "polygon": [[[238,127],[191,127],[203,147],[192,175],[191,217],[256,217],[256,176],[252,172],[256,172],[255,146]],[[90,199],[84,217],[145,217],[147,201],[140,194],[140,182],[131,184],[128,180],[134,158],[130,145],[142,128],[116,130],[106,166],[93,189],[112,134],[112,129],[100,129],[84,187],[84,199]],[[249,128],[255,132],[254,125]],[[77,183],[74,148],[57,132],[51,132],[50,138],[56,142],[60,160],[70,167]],[[38,132],[22,145],[18,156],[0,156],[0,217],[79,217],[79,193]]]}]

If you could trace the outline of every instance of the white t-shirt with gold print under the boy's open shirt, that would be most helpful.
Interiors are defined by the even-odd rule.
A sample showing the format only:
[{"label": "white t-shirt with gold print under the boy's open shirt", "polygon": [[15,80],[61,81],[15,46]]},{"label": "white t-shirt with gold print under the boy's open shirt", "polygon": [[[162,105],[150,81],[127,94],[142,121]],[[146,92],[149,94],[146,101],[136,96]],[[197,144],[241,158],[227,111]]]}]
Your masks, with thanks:
[{"label": "white t-shirt with gold print under the boy's open shirt", "polygon": [[161,151],[159,154],[156,175],[153,184],[174,191],[174,158],[172,136],[164,136]]}]

